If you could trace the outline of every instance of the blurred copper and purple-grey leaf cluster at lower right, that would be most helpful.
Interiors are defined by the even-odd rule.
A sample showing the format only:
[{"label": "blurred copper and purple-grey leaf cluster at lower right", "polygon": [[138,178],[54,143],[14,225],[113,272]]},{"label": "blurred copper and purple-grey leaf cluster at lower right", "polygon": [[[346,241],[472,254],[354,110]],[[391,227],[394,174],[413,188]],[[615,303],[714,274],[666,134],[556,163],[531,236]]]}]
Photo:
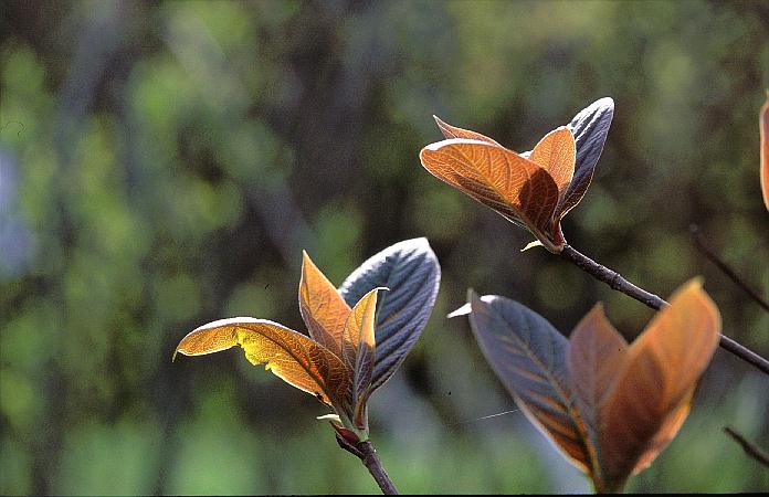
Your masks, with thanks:
[{"label": "blurred copper and purple-grey leaf cluster at lower right", "polygon": [[720,316],[695,278],[628,345],[598,304],[567,340],[544,317],[496,295],[470,315],[486,360],[518,406],[599,491],[617,491],[678,432],[718,346]]}]

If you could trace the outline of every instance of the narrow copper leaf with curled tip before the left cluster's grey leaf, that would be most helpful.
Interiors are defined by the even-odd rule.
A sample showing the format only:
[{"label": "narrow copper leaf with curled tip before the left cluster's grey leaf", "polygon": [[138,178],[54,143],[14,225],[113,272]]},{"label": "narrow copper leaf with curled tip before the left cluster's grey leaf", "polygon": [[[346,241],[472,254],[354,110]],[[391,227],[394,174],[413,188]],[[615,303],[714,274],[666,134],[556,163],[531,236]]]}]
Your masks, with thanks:
[{"label": "narrow copper leaf with curled tip before the left cluster's grey leaf", "polygon": [[359,429],[366,427],[366,402],[371,389],[376,347],[373,320],[379,289],[367,293],[355,305],[345,324],[341,357],[347,368],[352,371],[352,405],[355,424]]}]

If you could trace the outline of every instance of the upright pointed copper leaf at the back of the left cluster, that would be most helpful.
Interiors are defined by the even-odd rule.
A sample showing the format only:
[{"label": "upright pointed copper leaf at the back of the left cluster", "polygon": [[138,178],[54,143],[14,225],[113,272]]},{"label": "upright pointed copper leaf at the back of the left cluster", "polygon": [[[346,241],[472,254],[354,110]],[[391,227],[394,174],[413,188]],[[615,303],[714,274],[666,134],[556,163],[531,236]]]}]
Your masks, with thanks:
[{"label": "upright pointed copper leaf at the back of the left cluster", "polygon": [[309,336],[341,357],[341,336],[350,307],[304,251],[299,281],[299,311],[307,325]]}]

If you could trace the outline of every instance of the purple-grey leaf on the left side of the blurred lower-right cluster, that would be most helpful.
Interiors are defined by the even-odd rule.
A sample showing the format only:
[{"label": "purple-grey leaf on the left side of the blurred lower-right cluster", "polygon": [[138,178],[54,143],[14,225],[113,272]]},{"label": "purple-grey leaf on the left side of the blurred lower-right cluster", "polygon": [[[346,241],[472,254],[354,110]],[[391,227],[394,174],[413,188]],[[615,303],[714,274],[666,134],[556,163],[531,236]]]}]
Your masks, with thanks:
[{"label": "purple-grey leaf on the left side of the blurred lower-right cluster", "polygon": [[545,318],[508,298],[468,292],[470,325],[481,350],[526,416],[582,470],[591,455],[572,405],[567,340]]}]

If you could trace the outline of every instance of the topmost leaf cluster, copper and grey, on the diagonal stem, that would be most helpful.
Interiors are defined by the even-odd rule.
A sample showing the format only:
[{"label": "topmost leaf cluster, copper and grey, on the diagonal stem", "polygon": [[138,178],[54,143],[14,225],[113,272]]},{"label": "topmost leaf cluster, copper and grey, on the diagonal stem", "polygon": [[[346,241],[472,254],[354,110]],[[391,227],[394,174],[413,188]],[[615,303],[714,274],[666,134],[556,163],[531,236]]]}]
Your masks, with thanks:
[{"label": "topmost leaf cluster, copper and grey, on the diagonal stem", "polygon": [[435,117],[446,139],[424,147],[420,160],[431,175],[559,253],[566,245],[560,220],[588,190],[613,115],[614,101],[601,98],[523,154]]}]

